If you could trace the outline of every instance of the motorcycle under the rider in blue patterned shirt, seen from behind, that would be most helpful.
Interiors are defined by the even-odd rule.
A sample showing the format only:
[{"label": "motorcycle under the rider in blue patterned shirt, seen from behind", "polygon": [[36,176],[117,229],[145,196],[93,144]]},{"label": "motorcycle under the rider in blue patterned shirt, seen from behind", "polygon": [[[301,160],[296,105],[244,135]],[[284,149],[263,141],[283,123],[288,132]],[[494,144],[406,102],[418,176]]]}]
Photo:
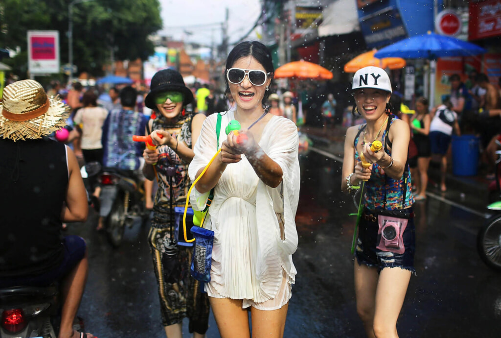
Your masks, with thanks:
[{"label": "motorcycle under the rider in blue patterned shirt, seen from behind", "polygon": [[126,227],[131,228],[137,219],[142,225],[148,220],[144,190],[132,171],[104,168],[98,181],[101,184],[99,215],[105,218],[108,240],[118,247]]}]

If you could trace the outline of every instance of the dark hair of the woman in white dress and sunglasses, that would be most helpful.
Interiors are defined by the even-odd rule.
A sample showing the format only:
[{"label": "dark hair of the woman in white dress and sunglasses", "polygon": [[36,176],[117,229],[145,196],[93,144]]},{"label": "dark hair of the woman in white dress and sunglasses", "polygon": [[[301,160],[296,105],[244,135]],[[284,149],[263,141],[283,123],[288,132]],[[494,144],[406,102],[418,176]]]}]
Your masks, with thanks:
[{"label": "dark hair of the woman in white dress and sunglasses", "polygon": [[[268,76],[269,79],[272,79],[270,82],[270,87],[273,85],[273,73],[275,72],[275,68],[273,66],[272,53],[264,44],[259,41],[244,41],[240,42],[238,45],[233,47],[231,52],[228,54],[228,58],[226,59],[226,67],[224,69],[224,83],[226,84],[226,90],[224,91],[224,98],[229,93],[229,83],[226,78],[226,72],[228,69],[233,67],[234,63],[244,57],[251,56],[256,61],[258,61],[267,73],[270,73]],[[268,100],[268,96],[270,96],[270,91],[266,90],[265,95],[263,96],[263,100],[261,104],[265,107],[265,102]]]}]

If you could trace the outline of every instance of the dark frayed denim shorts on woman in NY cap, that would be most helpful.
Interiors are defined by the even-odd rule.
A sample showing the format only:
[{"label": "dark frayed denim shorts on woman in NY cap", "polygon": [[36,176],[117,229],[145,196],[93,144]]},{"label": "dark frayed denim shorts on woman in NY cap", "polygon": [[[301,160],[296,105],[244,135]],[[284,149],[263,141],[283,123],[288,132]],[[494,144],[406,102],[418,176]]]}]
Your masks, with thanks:
[{"label": "dark frayed denim shorts on woman in NY cap", "polygon": [[[412,208],[406,209],[409,213]],[[365,211],[365,214],[371,213]],[[381,235],[378,235],[377,217],[375,220],[367,220],[361,218],[358,229],[357,247],[355,249],[355,257],[358,264],[365,264],[369,267],[377,266],[379,271],[383,268],[399,267],[404,270],[409,270],[415,273],[414,269],[414,252],[416,245],[416,236],[414,228],[414,218],[410,218],[407,227],[402,235],[405,251],[403,254],[397,254],[389,251],[380,250],[377,247]]]}]

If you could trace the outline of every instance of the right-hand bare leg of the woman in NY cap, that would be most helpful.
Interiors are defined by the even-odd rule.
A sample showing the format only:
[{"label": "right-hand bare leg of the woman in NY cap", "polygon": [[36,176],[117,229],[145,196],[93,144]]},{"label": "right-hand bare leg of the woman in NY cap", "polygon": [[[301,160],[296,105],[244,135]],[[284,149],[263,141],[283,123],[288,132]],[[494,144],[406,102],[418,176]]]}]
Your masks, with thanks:
[{"label": "right-hand bare leg of the woman in NY cap", "polygon": [[374,313],[376,337],[398,338],[397,319],[405,299],[411,272],[402,268],[384,268],[379,273]]}]

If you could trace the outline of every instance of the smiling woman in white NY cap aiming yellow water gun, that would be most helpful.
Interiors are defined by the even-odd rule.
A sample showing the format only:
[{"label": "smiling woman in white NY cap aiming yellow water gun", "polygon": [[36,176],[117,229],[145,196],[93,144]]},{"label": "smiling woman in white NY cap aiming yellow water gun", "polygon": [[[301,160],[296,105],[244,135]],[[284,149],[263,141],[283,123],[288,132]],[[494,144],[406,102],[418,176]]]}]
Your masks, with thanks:
[{"label": "smiling woman in white NY cap aiming yellow water gun", "polygon": [[[396,322],[414,270],[414,221],[412,183],[407,164],[410,131],[407,123],[390,113],[391,84],[378,67],[365,67],[353,77],[352,93],[357,112],[366,123],[346,131],[341,190],[355,192],[365,182],[355,249],[357,312],[368,337],[397,337]],[[370,144],[381,141],[373,152]],[[361,154],[370,163],[364,168]],[[402,210],[408,221],[398,244],[381,238],[378,211]],[[383,223],[385,225],[386,223]],[[401,241],[401,242],[400,242]],[[393,247],[398,245],[398,250]],[[401,253],[403,252],[403,253]]]}]

